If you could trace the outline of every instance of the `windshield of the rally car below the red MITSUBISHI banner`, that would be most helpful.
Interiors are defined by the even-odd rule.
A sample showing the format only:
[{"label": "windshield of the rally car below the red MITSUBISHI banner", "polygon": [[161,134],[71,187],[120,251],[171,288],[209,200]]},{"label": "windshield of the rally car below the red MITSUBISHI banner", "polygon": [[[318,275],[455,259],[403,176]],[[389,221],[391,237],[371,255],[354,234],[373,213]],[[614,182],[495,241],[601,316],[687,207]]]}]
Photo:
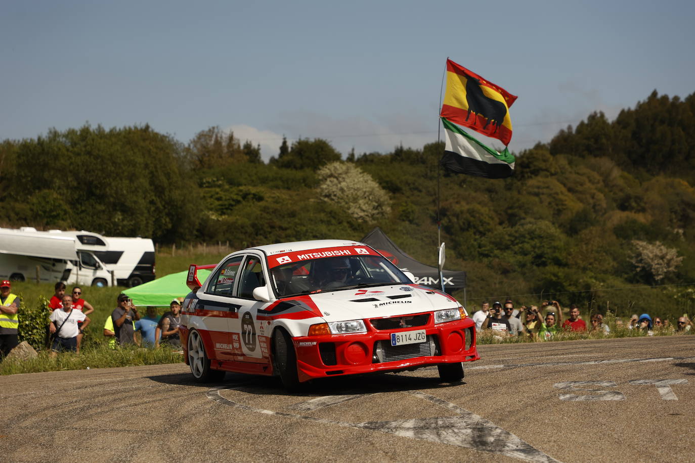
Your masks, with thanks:
[{"label": "windshield of the rally car below the red MITSUBISHI banner", "polygon": [[278,297],[412,283],[398,267],[380,255],[302,260],[275,267],[271,274]]}]

